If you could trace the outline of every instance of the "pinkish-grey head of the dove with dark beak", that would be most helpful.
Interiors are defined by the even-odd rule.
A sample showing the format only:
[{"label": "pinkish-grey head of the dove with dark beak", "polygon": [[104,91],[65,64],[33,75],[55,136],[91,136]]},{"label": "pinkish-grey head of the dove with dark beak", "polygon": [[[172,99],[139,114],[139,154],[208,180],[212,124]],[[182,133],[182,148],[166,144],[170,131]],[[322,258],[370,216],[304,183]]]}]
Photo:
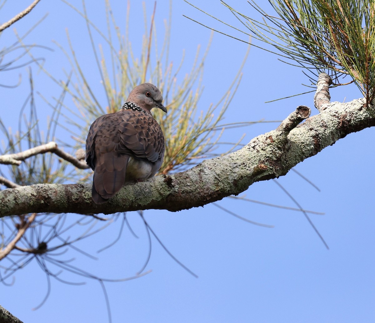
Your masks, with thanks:
[{"label": "pinkish-grey head of the dove with dark beak", "polygon": [[159,108],[166,112],[166,108],[162,104],[163,97],[160,90],[151,83],[143,83],[135,87],[126,101],[135,103],[149,113],[152,108]]}]

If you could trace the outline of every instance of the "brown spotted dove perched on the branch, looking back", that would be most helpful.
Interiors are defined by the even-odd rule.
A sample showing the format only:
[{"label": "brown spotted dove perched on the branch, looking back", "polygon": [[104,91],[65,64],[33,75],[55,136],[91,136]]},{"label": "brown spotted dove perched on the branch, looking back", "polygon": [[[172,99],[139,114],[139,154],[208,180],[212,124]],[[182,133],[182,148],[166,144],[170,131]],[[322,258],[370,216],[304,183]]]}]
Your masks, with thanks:
[{"label": "brown spotted dove perched on the branch, looking back", "polygon": [[130,92],[118,112],[102,115],[90,127],[86,162],[94,170],[92,198],[104,203],[129,182],[156,174],[163,163],[163,132],[152,108],[166,112],[159,89],[150,83]]}]

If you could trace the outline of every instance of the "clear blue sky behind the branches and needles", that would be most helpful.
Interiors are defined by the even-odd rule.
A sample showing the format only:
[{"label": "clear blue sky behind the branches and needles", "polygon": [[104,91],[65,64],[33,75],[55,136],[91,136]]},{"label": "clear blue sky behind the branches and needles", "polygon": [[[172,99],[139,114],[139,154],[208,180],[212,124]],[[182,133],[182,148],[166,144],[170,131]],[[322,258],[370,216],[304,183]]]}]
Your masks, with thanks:
[{"label": "clear blue sky behind the branches and needles", "polygon": [[[0,11],[1,21],[7,21],[30,2],[7,1]],[[200,2],[192,0],[212,15],[242,27],[219,1]],[[71,3],[81,8],[81,1]],[[153,3],[145,1],[148,16]],[[228,0],[228,3],[248,15],[254,14],[245,0]],[[267,3],[258,1],[265,7]],[[95,6],[87,1],[86,5],[89,16],[105,30],[104,1],[96,1]],[[111,5],[117,23],[124,30],[126,1],[112,0]],[[163,19],[169,15],[168,7],[169,1],[157,2],[155,23],[160,36],[164,32]],[[84,20],[62,1],[40,1],[26,18],[3,32],[1,46],[14,41],[13,28],[22,34],[46,13],[48,16],[27,37],[27,43],[54,49],[40,49],[37,53],[45,57],[48,70],[57,78],[63,78],[63,69],[69,70],[69,65],[52,40],[68,48],[68,28],[77,56],[100,91]],[[184,1],[172,1],[169,59],[177,64],[185,50],[185,63],[178,76],[181,79],[190,70],[197,46],[201,44],[205,48],[210,37],[210,30],[182,15],[234,34]],[[143,19],[141,1],[130,1],[129,38],[138,54],[144,33]],[[100,40],[97,46],[99,43]],[[246,50],[245,43],[214,34],[204,67],[204,92],[199,110],[207,109],[225,93]],[[36,66],[32,66],[32,70],[37,91],[48,99],[57,97],[58,87],[51,84]],[[20,87],[0,88],[1,118],[13,129],[17,129],[18,114],[29,93],[27,68],[0,73],[0,84],[17,83],[19,73],[22,74]],[[317,114],[314,93],[264,103],[305,92],[301,83],[308,84],[308,80],[299,68],[288,66],[275,55],[252,47],[224,122],[283,120],[298,105],[310,106],[312,114]],[[100,92],[98,96],[101,97]],[[360,96],[355,86],[331,91],[332,101],[350,101]],[[105,102],[104,93],[101,99]],[[66,104],[74,108],[71,100]],[[37,98],[37,109],[42,124],[50,109],[43,105],[40,97]],[[246,132],[243,142],[247,143],[277,125],[263,123],[234,129],[226,132],[222,140],[237,141]],[[64,136],[63,130],[59,134]],[[151,270],[149,274],[131,281],[105,284],[113,322],[374,322],[372,135],[373,129],[348,135],[296,166],[298,172],[321,189],[320,192],[294,172],[278,179],[303,208],[325,213],[311,215],[311,219],[330,250],[324,247],[304,215],[296,211],[233,199],[218,202],[252,221],[274,225],[272,229],[241,221],[214,205],[175,213],[145,211],[144,216],[159,239],[198,278],[175,263],[153,238],[151,258],[146,267],[146,271]],[[255,183],[245,194],[248,199],[295,207],[273,181]],[[110,244],[117,236],[118,221],[79,244],[99,260],[77,253],[72,255],[74,264],[105,278],[135,275],[147,258],[148,239],[139,215],[133,212],[127,217],[138,239],[125,228],[117,244],[96,254],[96,250]],[[14,275],[12,286],[1,285],[0,304],[28,323],[108,321],[104,295],[97,281],[69,273],[63,273],[62,277],[86,284],[71,286],[52,279],[45,304],[32,311],[45,297],[47,283],[39,266],[30,263]]]}]

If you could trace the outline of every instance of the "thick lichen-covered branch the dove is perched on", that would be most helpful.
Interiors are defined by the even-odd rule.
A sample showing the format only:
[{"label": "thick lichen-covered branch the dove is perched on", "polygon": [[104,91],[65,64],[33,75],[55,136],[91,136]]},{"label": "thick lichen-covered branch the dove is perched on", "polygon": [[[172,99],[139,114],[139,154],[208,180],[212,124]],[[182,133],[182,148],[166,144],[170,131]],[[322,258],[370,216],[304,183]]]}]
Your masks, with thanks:
[{"label": "thick lichen-covered branch the dove is perched on", "polygon": [[302,124],[309,109],[299,106],[275,130],[252,139],[242,149],[204,160],[185,172],[160,175],[126,185],[111,200],[96,205],[91,184],[36,184],[0,191],[0,217],[31,212],[112,214],[144,209],[179,211],[237,195],[254,182],[285,175],[308,157],[338,139],[375,125],[365,99],[326,103],[325,109]]}]

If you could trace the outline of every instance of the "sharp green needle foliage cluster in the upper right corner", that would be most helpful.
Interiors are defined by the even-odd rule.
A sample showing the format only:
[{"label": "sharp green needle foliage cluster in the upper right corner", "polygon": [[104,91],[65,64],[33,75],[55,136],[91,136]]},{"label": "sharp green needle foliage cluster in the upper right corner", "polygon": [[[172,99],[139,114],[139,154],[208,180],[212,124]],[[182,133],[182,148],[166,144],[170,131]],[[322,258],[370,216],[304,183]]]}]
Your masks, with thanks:
[{"label": "sharp green needle foliage cluster in the upper right corner", "polygon": [[[222,3],[247,30],[229,27],[272,45],[276,54],[290,59],[287,63],[303,67],[313,78],[325,72],[341,85],[342,77],[350,75],[367,102],[374,99],[375,1],[269,0],[271,14],[251,0],[254,15]],[[261,19],[254,18],[257,13]]]}]

